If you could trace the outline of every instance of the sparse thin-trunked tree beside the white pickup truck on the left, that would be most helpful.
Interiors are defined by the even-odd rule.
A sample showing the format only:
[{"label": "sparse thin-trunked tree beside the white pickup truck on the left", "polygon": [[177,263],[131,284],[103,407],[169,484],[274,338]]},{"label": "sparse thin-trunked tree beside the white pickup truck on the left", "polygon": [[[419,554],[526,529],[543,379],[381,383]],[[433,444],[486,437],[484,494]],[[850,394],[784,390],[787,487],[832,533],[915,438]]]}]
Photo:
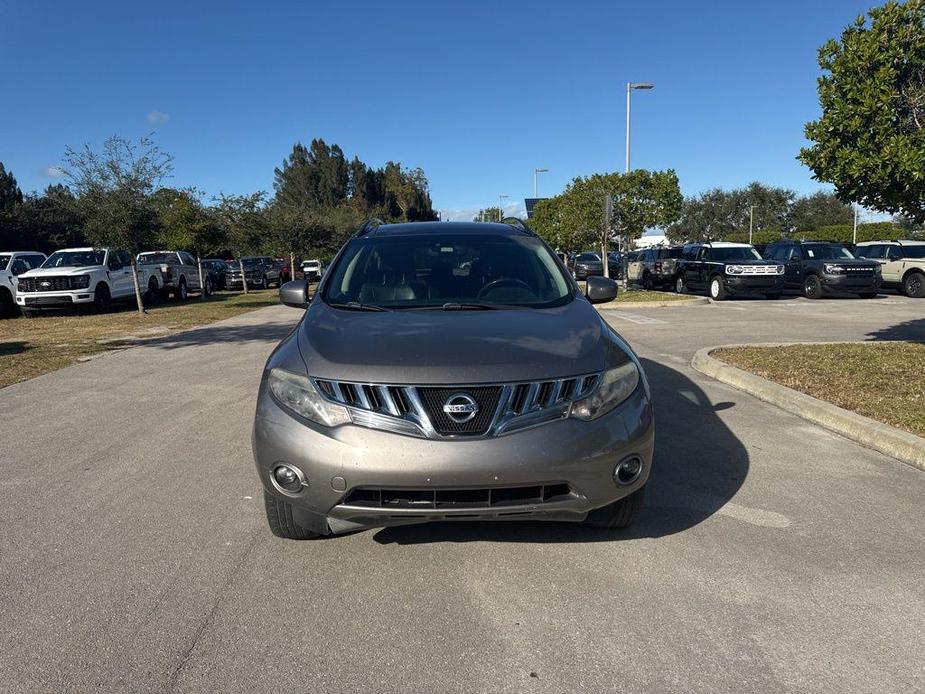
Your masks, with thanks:
[{"label": "sparse thin-trunked tree beside the white pickup truck on the left", "polygon": [[151,195],[173,169],[172,158],[152,140],[112,136],[100,151],[65,150],[65,174],[77,192],[84,232],[96,245],[128,250],[138,312],[144,313],[135,256],[153,241],[157,213]]}]

